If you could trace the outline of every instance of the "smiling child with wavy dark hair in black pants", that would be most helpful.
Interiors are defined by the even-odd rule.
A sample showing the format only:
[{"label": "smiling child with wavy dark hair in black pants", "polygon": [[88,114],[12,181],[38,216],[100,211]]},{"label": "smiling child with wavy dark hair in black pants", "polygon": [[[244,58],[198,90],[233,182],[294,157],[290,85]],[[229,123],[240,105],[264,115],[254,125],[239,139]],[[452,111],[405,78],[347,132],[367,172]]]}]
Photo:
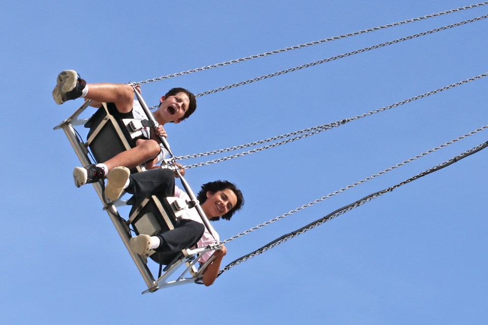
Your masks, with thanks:
[{"label": "smiling child with wavy dark hair in black pants", "polygon": [[[167,197],[178,197],[190,201],[188,195],[174,185],[174,175],[169,169],[153,169],[130,175],[129,169],[116,167],[107,176],[107,180],[105,196],[109,200],[118,199],[124,190],[134,194],[128,202],[133,205],[132,211],[144,198],[152,195],[160,200]],[[197,199],[207,218],[212,221],[219,220],[221,217],[230,220],[234,212],[242,208],[244,204],[242,192],[228,181],[203,184],[197,194]],[[150,249],[154,249],[157,253],[178,253],[182,249],[195,245],[205,247],[219,241],[217,232],[212,228],[211,231],[216,235],[214,239],[199,216],[183,214],[181,218],[177,219],[174,226],[173,230],[158,233],[155,236],[139,235],[131,238],[132,251],[143,256],[147,256]],[[203,273],[203,284],[209,286],[214,283],[219,274],[222,258],[226,253],[227,248],[222,245],[220,250],[202,254],[198,261],[200,264],[205,263],[212,255],[216,257]]]}]

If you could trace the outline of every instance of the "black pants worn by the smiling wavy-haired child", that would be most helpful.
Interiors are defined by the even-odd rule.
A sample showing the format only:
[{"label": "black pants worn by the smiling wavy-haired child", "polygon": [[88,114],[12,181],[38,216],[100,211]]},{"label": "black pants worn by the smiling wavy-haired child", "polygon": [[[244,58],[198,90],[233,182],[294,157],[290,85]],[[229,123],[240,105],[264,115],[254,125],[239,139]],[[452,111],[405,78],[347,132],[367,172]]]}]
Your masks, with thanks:
[{"label": "black pants worn by the smiling wavy-haired child", "polygon": [[[132,214],[147,197],[154,195],[158,199],[164,200],[167,197],[174,196],[173,172],[169,169],[158,168],[133,174],[130,176],[130,184],[126,191],[133,194],[128,202],[132,205]],[[161,244],[155,250],[161,254],[153,254],[151,258],[156,255],[153,258],[156,262],[169,262],[168,259],[172,259],[171,257],[175,253],[195,246],[204,231],[205,226],[202,223],[190,219],[178,219],[173,230],[155,235],[161,240]]]}]

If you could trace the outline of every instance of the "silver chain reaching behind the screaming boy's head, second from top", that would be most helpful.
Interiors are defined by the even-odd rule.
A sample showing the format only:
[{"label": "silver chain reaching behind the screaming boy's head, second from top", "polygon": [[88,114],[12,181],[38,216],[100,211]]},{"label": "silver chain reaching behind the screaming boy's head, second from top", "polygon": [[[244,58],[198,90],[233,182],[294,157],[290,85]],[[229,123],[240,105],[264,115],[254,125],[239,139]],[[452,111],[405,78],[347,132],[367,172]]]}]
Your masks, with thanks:
[{"label": "silver chain reaching behind the screaming boy's head, second from top", "polygon": [[228,85],[228,86],[224,86],[224,87],[220,87],[220,88],[216,88],[216,89],[204,91],[204,92],[201,92],[199,94],[196,94],[195,97],[208,95],[210,93],[215,93],[215,92],[218,92],[218,91],[227,90],[227,89],[230,89],[230,88],[234,88],[234,87],[246,85],[246,84],[249,84],[249,83],[252,83],[252,82],[255,82],[255,81],[260,81],[260,80],[264,80],[264,79],[267,79],[267,78],[276,77],[276,76],[279,76],[279,75],[283,75],[285,73],[289,73],[289,72],[298,71],[298,70],[301,70],[301,69],[304,69],[304,68],[309,68],[309,67],[317,66],[318,64],[322,64],[322,63],[325,63],[325,62],[333,61],[333,60],[336,60],[336,59],[339,59],[339,58],[343,58],[343,57],[346,57],[346,56],[351,56],[351,55],[354,55],[354,54],[357,54],[357,53],[367,52],[367,51],[374,50],[374,49],[377,49],[377,48],[381,48],[381,47],[384,47],[384,46],[387,46],[387,45],[391,45],[391,44],[395,44],[395,43],[400,43],[400,42],[403,42],[403,41],[411,40],[411,39],[414,39],[414,38],[417,38],[417,37],[421,37],[421,36],[425,36],[425,35],[430,35],[430,34],[433,34],[435,32],[441,31],[441,30],[446,30],[446,29],[449,29],[449,28],[453,28],[453,27],[465,25],[465,24],[468,24],[468,23],[471,23],[471,22],[474,22],[474,21],[478,21],[478,20],[481,20],[481,19],[485,19],[485,18],[488,18],[488,15],[484,15],[484,16],[480,16],[480,17],[477,17],[477,18],[473,18],[473,19],[461,21],[461,22],[458,22],[458,23],[455,23],[455,24],[451,24],[451,25],[447,25],[447,26],[440,27],[440,28],[435,28],[435,29],[432,29],[432,30],[429,30],[429,31],[421,32],[419,34],[411,35],[411,36],[408,36],[408,37],[403,37],[403,38],[400,38],[400,39],[396,39],[394,41],[389,41],[389,42],[385,42],[385,43],[373,45],[373,46],[370,46],[370,47],[367,47],[367,48],[363,48],[363,49],[356,50],[356,51],[352,51],[352,52],[349,52],[349,53],[345,53],[345,54],[341,54],[341,55],[329,57],[329,58],[326,58],[326,59],[323,59],[323,60],[319,60],[319,61],[315,61],[315,62],[312,62],[312,63],[303,64],[302,66],[299,66],[299,67],[294,67],[294,68],[282,70],[282,71],[279,71],[279,72],[271,73],[271,74],[268,74],[268,75],[265,75],[265,76],[257,77],[257,78],[254,78],[254,79],[249,79],[249,80],[246,80],[246,81],[237,82],[237,83],[234,83],[234,84],[231,84],[231,85]]}]

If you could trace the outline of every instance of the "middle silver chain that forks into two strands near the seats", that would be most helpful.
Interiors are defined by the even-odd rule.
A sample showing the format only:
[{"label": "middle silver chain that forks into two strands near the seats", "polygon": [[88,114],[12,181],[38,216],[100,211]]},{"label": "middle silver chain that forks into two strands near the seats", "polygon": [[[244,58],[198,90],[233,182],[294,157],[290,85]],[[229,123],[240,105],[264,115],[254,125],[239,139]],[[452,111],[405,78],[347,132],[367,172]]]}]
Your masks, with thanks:
[{"label": "middle silver chain that forks into two strands near the seats", "polygon": [[[297,136],[297,137],[294,137],[294,138],[291,138],[291,139],[287,139],[287,140],[283,140],[283,141],[280,141],[280,142],[277,142],[277,143],[269,144],[267,146],[260,147],[260,148],[256,148],[256,149],[253,149],[253,150],[248,150],[248,151],[245,151],[245,152],[237,153],[237,154],[234,154],[234,155],[231,155],[231,156],[227,156],[227,157],[222,157],[222,158],[219,158],[219,159],[213,159],[213,160],[205,161],[204,163],[198,163],[198,164],[184,166],[183,168],[185,168],[185,169],[192,169],[192,168],[195,168],[195,167],[201,167],[201,166],[206,166],[206,165],[211,165],[211,164],[217,164],[217,163],[220,163],[222,161],[230,160],[230,159],[237,158],[237,157],[242,157],[242,156],[245,156],[245,155],[248,155],[248,154],[252,154],[252,153],[259,152],[259,151],[262,151],[262,150],[266,150],[266,149],[269,149],[269,148],[277,147],[277,146],[280,146],[282,144],[286,144],[286,143],[289,143],[289,142],[293,142],[295,140],[303,139],[303,138],[306,138],[306,137],[309,137],[309,136],[318,134],[320,132],[326,131],[327,129],[331,129],[333,127],[338,127],[338,126],[340,126],[342,124],[345,124],[347,122],[350,122],[350,121],[353,121],[353,120],[358,120],[360,118],[367,117],[367,116],[370,116],[370,115],[373,115],[373,114],[376,114],[376,113],[379,113],[379,112],[383,112],[383,111],[386,111],[388,109],[391,109],[391,108],[398,107],[398,106],[403,105],[403,104],[407,104],[407,103],[416,101],[418,99],[421,99],[421,98],[430,96],[432,94],[435,94],[435,93],[438,93],[438,92],[441,92],[441,91],[444,91],[444,90],[447,90],[447,89],[450,89],[450,88],[453,88],[453,87],[456,87],[456,86],[459,86],[459,85],[462,85],[462,84],[465,84],[465,83],[468,83],[468,82],[471,82],[471,81],[474,81],[474,80],[477,80],[477,79],[480,79],[480,78],[483,78],[483,77],[486,77],[486,76],[488,76],[488,72],[487,73],[484,73],[484,74],[481,74],[479,76],[476,76],[476,77],[472,77],[472,78],[469,78],[469,79],[466,79],[466,80],[463,80],[463,81],[460,81],[460,82],[453,83],[451,85],[448,85],[448,86],[445,86],[445,87],[442,87],[442,88],[439,88],[439,89],[436,89],[436,90],[433,90],[433,91],[429,91],[429,92],[426,92],[426,93],[417,95],[415,97],[409,98],[407,100],[404,100],[404,101],[401,101],[401,102],[398,102],[398,103],[394,103],[394,104],[391,104],[391,105],[388,105],[388,106],[385,106],[385,107],[376,109],[374,111],[369,111],[367,113],[363,113],[363,114],[360,114],[360,115],[356,115],[354,117],[346,118],[346,119],[339,120],[339,121],[335,121],[335,122],[332,122],[332,123],[327,123],[327,124],[322,124],[322,125],[314,126],[314,127],[311,127],[311,128],[307,128],[307,129],[304,129],[304,130],[301,130],[301,131],[297,131],[297,132],[291,133],[291,134],[300,134],[300,133],[308,132],[306,134],[302,134],[301,136]],[[283,135],[283,136],[279,136],[279,137],[275,137],[275,138],[282,138],[282,137],[285,137],[285,136],[287,136],[287,135]],[[270,139],[273,139],[273,138],[269,138],[269,139],[266,139],[266,140],[261,140],[261,141],[258,141],[258,142],[264,143],[264,142],[271,141]],[[249,145],[251,145],[251,144],[249,144]],[[248,146],[248,145],[242,145],[242,147],[243,146]],[[239,147],[239,146],[237,146],[237,147]],[[232,148],[234,148],[234,147],[232,147]],[[216,150],[216,151],[226,152],[226,151],[233,150],[232,148],[220,149],[220,150]],[[197,154],[195,156],[202,156],[202,155],[206,155],[206,154],[205,153],[200,153],[200,154]]]}]

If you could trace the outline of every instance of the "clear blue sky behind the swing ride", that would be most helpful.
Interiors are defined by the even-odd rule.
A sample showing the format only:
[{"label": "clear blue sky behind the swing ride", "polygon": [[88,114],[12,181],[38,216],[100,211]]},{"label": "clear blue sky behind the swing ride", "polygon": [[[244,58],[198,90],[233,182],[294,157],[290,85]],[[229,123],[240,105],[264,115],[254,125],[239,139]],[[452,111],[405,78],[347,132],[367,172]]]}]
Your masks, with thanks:
[{"label": "clear blue sky behind the swing ride", "polygon": [[[79,165],[53,127],[56,75],[141,81],[475,2],[109,1],[6,3],[5,171],[0,307],[9,324],[484,323],[488,283],[483,150],[224,273],[211,287],[146,288]],[[195,93],[488,14],[488,6],[143,85]],[[176,155],[231,147],[353,117],[488,72],[488,19],[202,96],[169,125]],[[488,124],[487,77],[291,144],[189,170],[194,190],[235,182],[246,204],[213,225],[229,238]],[[230,242],[224,265],[271,240],[487,140],[479,132]],[[218,156],[221,157],[221,156]],[[217,158],[218,158],[217,157]],[[214,157],[212,157],[214,158]],[[184,161],[184,164],[196,161]],[[204,160],[203,160],[204,161]],[[156,272],[156,265],[151,265]],[[193,318],[192,317],[192,318]]]}]

